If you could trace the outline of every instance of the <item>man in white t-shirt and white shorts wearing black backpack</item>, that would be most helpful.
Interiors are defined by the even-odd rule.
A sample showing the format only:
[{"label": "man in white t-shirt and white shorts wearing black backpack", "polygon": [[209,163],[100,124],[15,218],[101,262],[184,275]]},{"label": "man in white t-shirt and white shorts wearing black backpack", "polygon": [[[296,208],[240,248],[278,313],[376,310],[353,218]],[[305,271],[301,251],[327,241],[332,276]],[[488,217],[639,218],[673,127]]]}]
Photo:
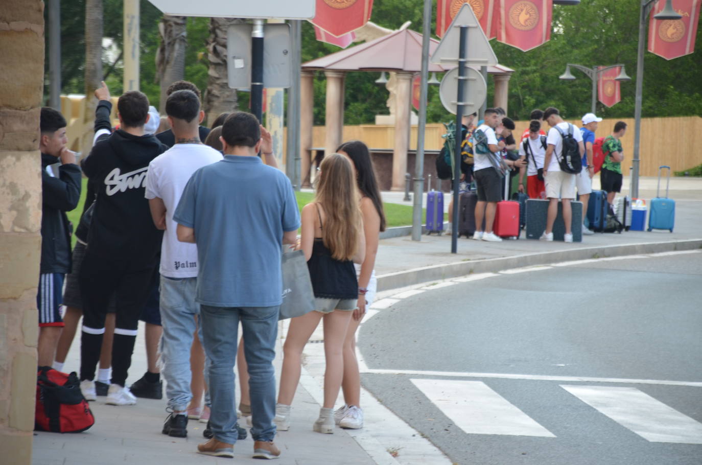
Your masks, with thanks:
[{"label": "man in white t-shirt and white shorts wearing black backpack", "polygon": [[546,230],[543,232],[541,240],[549,242],[553,240],[553,223],[556,221],[558,214],[558,199],[560,198],[563,203],[563,221],[566,228],[564,242],[573,242],[573,232],[571,231],[573,211],[571,210],[570,202],[572,199],[575,199],[576,174],[561,171],[558,160],[563,156],[563,138],[556,126],[564,133],[568,133],[569,130],[573,133],[573,138],[578,141],[581,157],[585,154],[583,135],[578,128],[563,121],[557,108],[547,108],[543,112],[543,120],[551,126],[548,136],[546,136],[548,148],[546,148],[543,162],[543,179],[546,187],[546,197],[548,197],[550,204],[548,205],[548,215],[546,216]]}]

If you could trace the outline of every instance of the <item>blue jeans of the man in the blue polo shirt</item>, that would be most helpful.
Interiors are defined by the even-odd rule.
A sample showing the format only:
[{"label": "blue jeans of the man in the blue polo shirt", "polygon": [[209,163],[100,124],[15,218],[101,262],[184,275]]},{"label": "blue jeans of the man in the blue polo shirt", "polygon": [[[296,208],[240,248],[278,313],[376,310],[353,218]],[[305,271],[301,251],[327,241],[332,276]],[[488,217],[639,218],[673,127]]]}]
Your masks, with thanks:
[{"label": "blue jeans of the man in the blue polo shirt", "polygon": [[237,360],[239,321],[244,355],[249,364],[251,392],[251,436],[272,441],[275,436],[275,341],[279,306],[201,306],[202,344],[209,359],[209,390],[212,402],[210,427],[223,443],[237,442],[237,410],[234,408],[234,362]]}]

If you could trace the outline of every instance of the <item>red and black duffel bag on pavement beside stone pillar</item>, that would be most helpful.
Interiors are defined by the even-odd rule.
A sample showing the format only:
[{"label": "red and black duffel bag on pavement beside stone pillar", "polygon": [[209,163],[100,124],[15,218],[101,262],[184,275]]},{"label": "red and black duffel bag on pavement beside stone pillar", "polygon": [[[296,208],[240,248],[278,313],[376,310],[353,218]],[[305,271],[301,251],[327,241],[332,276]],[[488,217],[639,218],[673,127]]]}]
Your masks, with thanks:
[{"label": "red and black duffel bag on pavement beside stone pillar", "polygon": [[95,417],[81,393],[76,372],[66,374],[51,367],[39,367],[34,429],[53,433],[79,433],[93,424]]}]

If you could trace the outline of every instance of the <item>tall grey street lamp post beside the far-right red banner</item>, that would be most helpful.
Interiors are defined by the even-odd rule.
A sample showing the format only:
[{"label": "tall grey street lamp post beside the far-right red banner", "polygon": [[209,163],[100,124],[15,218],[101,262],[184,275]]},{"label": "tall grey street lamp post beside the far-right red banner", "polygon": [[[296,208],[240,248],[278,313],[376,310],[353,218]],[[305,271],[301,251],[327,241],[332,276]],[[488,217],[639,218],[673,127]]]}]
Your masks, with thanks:
[{"label": "tall grey street lamp post beside the far-right red banner", "polygon": [[[641,107],[642,95],[644,91],[644,44],[646,43],[646,19],[651,8],[654,7],[658,0],[641,0],[641,13],[639,16],[639,49],[636,55],[636,98],[634,105],[634,157],[631,161],[633,168],[631,173],[631,192],[630,197],[636,199],[639,197],[639,148],[641,137]],[[682,18],[675,10],[673,10],[673,0],[665,0],[665,8],[661,13],[654,16],[657,20],[679,20]]]}]

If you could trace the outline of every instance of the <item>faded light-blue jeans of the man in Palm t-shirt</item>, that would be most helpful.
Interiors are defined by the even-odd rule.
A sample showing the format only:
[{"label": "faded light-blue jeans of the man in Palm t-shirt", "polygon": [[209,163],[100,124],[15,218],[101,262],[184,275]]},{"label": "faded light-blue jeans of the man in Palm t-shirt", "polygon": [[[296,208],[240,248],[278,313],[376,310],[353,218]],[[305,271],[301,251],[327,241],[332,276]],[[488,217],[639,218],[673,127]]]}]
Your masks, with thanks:
[{"label": "faded light-blue jeans of the man in Palm t-shirt", "polygon": [[[190,391],[190,347],[195,332],[195,317],[200,304],[195,302],[197,277],[172,278],[161,276],[161,337],[162,373],[166,379],[168,407],[176,412],[187,409],[192,399]],[[202,325],[198,329],[202,339]]]}]

